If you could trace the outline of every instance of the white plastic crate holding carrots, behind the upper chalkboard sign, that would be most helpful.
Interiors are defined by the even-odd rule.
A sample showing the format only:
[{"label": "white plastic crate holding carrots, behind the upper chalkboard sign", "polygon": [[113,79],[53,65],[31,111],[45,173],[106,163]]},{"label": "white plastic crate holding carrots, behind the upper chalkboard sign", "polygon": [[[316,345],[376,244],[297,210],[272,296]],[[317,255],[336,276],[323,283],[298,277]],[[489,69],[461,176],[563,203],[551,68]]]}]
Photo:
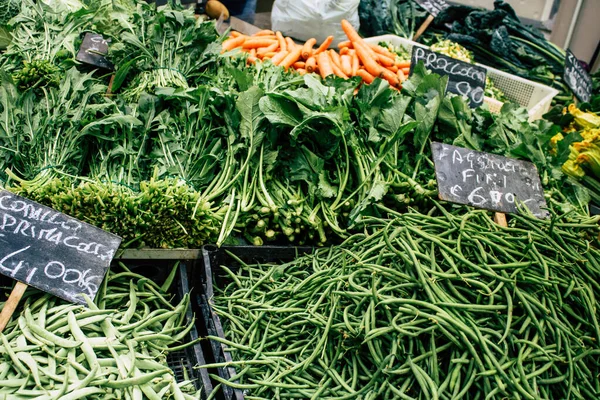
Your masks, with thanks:
[{"label": "white plastic crate holding carrots, behind the upper chalkboard sign", "polygon": [[[417,42],[401,38],[395,35],[375,36],[365,39],[367,43],[378,44],[379,42],[387,42],[395,47],[404,47],[409,52],[414,46],[428,48]],[[542,85],[541,83],[533,82],[520,76],[512,75],[498,69],[488,67],[487,65],[477,65],[487,70],[487,76],[494,82],[494,85],[504,92],[504,95],[510,101],[525,107],[529,112],[529,120],[535,121],[541,119],[542,116],[550,110],[552,99],[558,94],[558,90]],[[490,111],[494,113],[500,112],[502,105],[501,101],[485,97],[484,103],[488,105]]]}]

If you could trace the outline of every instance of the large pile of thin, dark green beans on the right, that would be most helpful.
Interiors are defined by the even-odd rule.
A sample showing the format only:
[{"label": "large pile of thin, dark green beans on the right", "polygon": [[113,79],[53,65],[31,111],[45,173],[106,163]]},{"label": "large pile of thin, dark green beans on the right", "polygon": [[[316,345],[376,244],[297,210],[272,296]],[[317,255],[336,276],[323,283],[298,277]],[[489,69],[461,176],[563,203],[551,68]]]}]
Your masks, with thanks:
[{"label": "large pile of thin, dark green beans on the right", "polygon": [[237,375],[212,378],[247,399],[600,398],[598,218],[510,219],[410,211],[223,266],[210,339],[234,361],[213,366]]}]

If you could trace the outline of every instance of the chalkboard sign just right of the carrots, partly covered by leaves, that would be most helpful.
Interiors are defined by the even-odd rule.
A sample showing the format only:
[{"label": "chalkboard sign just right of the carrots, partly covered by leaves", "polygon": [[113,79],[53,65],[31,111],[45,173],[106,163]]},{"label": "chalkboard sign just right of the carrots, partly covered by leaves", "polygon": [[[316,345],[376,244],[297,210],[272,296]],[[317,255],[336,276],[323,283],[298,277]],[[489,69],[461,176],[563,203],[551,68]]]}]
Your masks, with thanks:
[{"label": "chalkboard sign just right of the carrots, partly covered by leaves", "polygon": [[410,63],[411,74],[419,62],[423,62],[425,68],[436,74],[448,76],[446,90],[450,93],[466,96],[469,99],[471,108],[483,104],[487,74],[485,68],[415,46],[412,50]]}]

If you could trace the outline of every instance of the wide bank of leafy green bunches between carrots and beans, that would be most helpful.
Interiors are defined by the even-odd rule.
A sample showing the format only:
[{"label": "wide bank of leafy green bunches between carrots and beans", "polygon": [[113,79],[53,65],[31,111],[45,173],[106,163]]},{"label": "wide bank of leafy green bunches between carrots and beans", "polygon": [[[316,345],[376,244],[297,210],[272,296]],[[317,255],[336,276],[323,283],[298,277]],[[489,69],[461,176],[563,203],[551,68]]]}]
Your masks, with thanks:
[{"label": "wide bank of leafy green bunches between carrots and beans", "polygon": [[[551,124],[471,110],[423,65],[402,92],[322,80],[221,56],[214,24],[177,4],[52,4],[19,14],[0,55],[0,179],[127,246],[338,242],[386,210],[432,205],[433,140],[532,159],[551,191],[568,182],[546,158]],[[109,96],[108,77],[74,60],[88,29],[111,39]],[[585,207],[569,188],[551,200]]]}]

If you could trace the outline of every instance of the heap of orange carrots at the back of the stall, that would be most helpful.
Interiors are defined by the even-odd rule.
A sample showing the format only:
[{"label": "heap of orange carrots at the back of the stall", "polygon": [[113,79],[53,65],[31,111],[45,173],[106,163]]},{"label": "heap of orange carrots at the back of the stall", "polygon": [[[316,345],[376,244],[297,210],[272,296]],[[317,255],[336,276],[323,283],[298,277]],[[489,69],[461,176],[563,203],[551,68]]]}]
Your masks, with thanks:
[{"label": "heap of orange carrots at the back of the stall", "polygon": [[248,62],[271,60],[275,65],[295,69],[300,74],[318,73],[323,78],[337,75],[348,79],[360,76],[369,84],[375,78],[387,80],[394,88],[400,89],[408,76],[410,61],[401,61],[390,50],[366,43],[346,20],[342,28],[348,40],[338,45],[339,52],[329,49],[333,36],[315,49],[316,39],[309,39],[303,45],[281,32],[263,30],[252,36],[231,32],[223,42],[223,51],[240,48],[249,53]]}]

